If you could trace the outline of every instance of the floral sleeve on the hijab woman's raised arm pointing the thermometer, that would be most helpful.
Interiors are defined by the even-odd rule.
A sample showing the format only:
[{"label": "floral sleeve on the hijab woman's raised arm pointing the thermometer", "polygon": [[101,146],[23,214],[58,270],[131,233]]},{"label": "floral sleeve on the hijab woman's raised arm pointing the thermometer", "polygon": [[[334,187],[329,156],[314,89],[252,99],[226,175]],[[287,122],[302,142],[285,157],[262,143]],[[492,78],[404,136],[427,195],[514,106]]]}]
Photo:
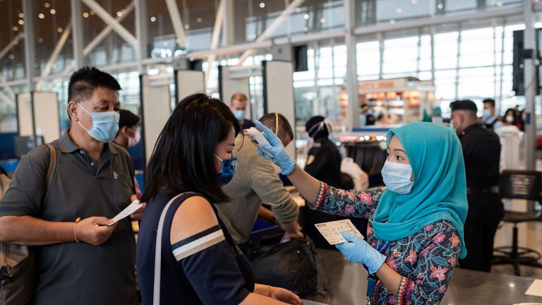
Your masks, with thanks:
[{"label": "floral sleeve on the hijab woman's raised arm pointing the thermometer", "polygon": [[345,191],[320,182],[316,203],[309,203],[309,206],[327,214],[368,218],[375,212],[382,193],[382,188]]}]

